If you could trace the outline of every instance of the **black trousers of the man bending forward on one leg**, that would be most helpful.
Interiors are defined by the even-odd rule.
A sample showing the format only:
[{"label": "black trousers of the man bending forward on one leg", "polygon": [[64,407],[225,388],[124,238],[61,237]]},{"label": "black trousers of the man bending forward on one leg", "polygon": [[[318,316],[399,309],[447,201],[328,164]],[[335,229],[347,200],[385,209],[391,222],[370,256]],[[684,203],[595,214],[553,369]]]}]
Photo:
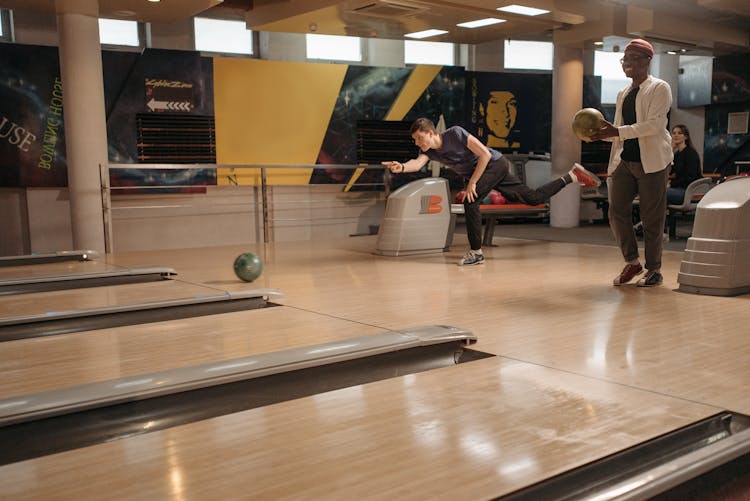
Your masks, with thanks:
[{"label": "black trousers of the man bending forward on one leg", "polygon": [[466,215],[466,233],[472,250],[482,248],[482,215],[479,204],[493,189],[512,203],[539,205],[547,202],[552,195],[565,187],[567,183],[557,178],[549,183],[532,189],[521,182],[511,170],[510,161],[505,157],[487,164],[482,177],[477,181],[477,198],[473,202],[464,199],[464,213]]}]

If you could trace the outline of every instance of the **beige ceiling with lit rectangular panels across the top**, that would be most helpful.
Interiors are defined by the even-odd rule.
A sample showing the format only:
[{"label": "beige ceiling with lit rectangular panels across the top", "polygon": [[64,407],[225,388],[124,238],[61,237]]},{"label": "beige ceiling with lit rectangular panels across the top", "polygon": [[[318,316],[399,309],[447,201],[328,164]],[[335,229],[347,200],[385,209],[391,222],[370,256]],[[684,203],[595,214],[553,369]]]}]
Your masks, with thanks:
[{"label": "beige ceiling with lit rectangular panels across the top", "polygon": [[[526,17],[496,10],[514,2],[550,12]],[[96,0],[0,0],[0,7],[49,15],[56,5],[86,3],[96,5]],[[98,8],[101,17],[152,23],[196,14],[244,18],[259,31],[402,39],[405,33],[439,28],[449,33],[428,40],[547,39],[576,47],[640,36],[663,50],[750,52],[748,0],[98,0]],[[506,22],[478,29],[456,26],[485,17]]]}]

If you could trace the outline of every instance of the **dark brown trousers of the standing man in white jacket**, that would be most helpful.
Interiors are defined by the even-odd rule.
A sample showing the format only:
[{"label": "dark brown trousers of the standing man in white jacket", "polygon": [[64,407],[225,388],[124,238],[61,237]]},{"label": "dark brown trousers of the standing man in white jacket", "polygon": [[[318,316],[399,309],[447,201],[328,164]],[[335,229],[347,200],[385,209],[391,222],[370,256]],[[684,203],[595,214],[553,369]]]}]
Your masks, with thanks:
[{"label": "dark brown trousers of the standing man in white jacket", "polygon": [[609,191],[609,221],[625,261],[638,259],[638,241],[633,228],[633,200],[639,198],[646,269],[661,268],[664,220],[667,217],[669,169],[646,174],[640,162],[621,161],[612,173]]}]

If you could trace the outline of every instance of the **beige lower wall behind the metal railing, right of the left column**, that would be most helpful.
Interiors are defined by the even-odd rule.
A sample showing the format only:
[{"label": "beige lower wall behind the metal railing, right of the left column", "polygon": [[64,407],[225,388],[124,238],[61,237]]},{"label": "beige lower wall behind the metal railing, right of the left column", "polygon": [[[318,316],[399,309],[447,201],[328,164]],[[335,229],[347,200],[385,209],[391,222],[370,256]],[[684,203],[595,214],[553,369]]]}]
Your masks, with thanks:
[{"label": "beige lower wall behind the metal railing, right of the left column", "polygon": [[[344,193],[340,185],[268,188],[269,241],[320,240],[368,233],[380,224],[382,193]],[[115,195],[117,252],[263,241],[260,188],[210,186],[205,194]]]}]

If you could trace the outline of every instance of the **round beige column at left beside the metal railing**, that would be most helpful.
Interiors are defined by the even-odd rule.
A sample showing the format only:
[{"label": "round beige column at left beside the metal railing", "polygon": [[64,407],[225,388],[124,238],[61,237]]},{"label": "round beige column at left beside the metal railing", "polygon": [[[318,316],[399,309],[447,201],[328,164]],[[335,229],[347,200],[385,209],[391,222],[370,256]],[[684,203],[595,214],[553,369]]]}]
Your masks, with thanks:
[{"label": "round beige column at left beside the metal railing", "polygon": [[73,247],[104,252],[99,175],[107,162],[97,0],[56,0]]}]

